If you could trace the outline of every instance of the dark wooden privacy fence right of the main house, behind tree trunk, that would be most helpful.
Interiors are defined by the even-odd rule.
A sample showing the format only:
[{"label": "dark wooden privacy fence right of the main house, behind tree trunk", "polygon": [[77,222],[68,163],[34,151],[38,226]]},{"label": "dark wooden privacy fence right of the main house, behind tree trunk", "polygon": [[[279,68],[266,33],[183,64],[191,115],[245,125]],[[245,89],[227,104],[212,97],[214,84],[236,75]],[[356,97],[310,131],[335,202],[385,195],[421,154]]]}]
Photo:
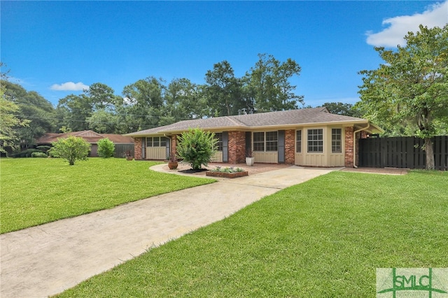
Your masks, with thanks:
[{"label": "dark wooden privacy fence right of the main house, behind tree trunk", "polygon": [[[423,139],[414,136],[359,140],[359,166],[425,169]],[[435,169],[448,171],[448,136],[433,138]]]}]

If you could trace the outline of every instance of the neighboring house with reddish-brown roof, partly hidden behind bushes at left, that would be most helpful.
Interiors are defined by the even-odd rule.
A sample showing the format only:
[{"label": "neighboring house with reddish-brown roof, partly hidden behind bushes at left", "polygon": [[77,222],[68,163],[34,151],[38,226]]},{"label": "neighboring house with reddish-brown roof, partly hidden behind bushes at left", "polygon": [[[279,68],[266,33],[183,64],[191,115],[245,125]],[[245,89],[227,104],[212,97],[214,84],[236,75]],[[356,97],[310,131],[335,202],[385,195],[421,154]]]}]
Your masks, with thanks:
[{"label": "neighboring house with reddish-brown roof, partly hidden behind bushes at left", "polygon": [[[90,157],[97,157],[98,153],[98,141],[101,139],[109,139],[116,146],[116,157],[123,157],[123,150],[134,151],[134,139],[130,136],[123,136],[121,134],[98,134],[97,132],[92,132],[91,130],[83,130],[82,132],[67,132],[64,134],[44,134],[39,139],[36,140],[37,146],[40,145],[51,145],[52,142],[57,141],[57,139],[64,139],[68,136],[78,136],[83,138],[87,143],[90,143],[92,147],[90,148]],[[122,150],[117,150],[118,146],[120,148],[127,148]],[[118,152],[120,151],[120,152]],[[121,152],[123,151],[123,152]]]}]

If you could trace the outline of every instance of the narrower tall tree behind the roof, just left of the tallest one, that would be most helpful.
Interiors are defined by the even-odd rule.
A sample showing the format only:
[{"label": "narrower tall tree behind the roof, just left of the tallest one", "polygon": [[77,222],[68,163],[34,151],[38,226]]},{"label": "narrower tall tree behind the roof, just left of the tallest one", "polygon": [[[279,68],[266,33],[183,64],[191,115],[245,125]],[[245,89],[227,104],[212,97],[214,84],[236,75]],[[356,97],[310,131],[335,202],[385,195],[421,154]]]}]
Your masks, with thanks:
[{"label": "narrower tall tree behind the roof, just left of the tallest one", "polygon": [[237,115],[244,108],[241,101],[241,82],[227,61],[214,64],[213,70],[205,74],[206,94],[211,108],[209,116]]}]

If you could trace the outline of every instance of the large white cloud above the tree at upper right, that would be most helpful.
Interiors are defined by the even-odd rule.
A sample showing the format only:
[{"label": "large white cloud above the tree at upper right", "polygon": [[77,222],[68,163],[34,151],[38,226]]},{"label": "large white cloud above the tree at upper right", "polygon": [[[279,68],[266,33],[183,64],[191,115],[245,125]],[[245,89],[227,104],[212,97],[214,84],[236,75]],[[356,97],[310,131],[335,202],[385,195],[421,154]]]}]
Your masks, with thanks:
[{"label": "large white cloud above the tree at upper right", "polygon": [[383,21],[383,25],[389,25],[386,29],[373,33],[367,32],[367,43],[377,47],[395,47],[405,45],[404,36],[407,32],[419,31],[419,25],[433,27],[444,27],[448,22],[448,0],[444,3],[433,4],[423,13],[414,15],[401,15],[391,17]]}]

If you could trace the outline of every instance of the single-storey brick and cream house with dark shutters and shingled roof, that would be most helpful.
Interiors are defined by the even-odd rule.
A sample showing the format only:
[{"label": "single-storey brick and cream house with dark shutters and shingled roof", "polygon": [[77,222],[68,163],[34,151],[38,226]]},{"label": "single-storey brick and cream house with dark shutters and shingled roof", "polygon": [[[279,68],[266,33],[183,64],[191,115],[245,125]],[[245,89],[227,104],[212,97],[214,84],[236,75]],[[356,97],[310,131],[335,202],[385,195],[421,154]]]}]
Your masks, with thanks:
[{"label": "single-storey brick and cream house with dark shutters and shingled roof", "polygon": [[177,136],[196,127],[216,134],[215,162],[244,163],[247,150],[253,150],[255,162],[300,166],[353,167],[358,157],[353,139],[383,132],[365,119],[305,108],[185,120],[126,136],[134,138],[136,159],[166,159],[176,151]]}]

